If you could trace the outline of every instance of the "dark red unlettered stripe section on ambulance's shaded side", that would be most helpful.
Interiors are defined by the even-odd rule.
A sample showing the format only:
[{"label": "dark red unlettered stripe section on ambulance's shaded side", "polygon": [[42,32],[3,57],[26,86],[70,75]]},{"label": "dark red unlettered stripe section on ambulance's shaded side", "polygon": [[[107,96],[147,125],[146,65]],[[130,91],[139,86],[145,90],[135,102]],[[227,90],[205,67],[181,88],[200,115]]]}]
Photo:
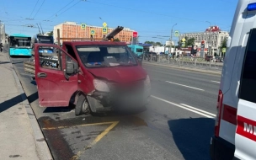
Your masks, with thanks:
[{"label": "dark red unlettered stripe section on ambulance's shaded side", "polygon": [[222,120],[226,120],[233,125],[237,125],[237,109],[224,104]]}]

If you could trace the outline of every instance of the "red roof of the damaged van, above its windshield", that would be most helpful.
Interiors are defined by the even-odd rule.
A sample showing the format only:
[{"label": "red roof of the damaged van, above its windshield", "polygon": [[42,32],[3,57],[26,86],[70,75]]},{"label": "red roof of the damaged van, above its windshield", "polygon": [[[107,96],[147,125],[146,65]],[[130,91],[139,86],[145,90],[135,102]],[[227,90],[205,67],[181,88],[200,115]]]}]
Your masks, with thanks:
[{"label": "red roof of the damaged van, above its windshield", "polygon": [[125,42],[111,41],[64,41],[62,45],[126,45]]}]

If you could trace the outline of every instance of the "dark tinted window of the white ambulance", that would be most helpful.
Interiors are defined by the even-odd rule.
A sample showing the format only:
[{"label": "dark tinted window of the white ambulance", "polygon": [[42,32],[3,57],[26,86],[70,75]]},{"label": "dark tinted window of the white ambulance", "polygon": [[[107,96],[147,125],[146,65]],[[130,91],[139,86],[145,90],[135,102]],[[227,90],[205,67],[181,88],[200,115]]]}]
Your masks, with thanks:
[{"label": "dark tinted window of the white ambulance", "polygon": [[256,103],[256,29],[251,29],[244,54],[239,99]]}]

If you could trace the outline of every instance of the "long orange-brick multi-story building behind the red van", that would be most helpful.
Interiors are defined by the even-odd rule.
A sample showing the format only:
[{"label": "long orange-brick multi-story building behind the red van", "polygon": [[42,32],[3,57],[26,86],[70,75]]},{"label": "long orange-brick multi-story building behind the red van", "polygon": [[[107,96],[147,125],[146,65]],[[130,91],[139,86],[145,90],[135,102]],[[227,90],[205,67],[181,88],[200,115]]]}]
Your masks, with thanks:
[{"label": "long orange-brick multi-story building behind the red van", "polygon": [[[60,36],[65,38],[90,38],[91,36],[91,30],[94,30],[93,38],[100,39],[103,38],[104,34],[102,31],[103,27],[99,26],[92,26],[92,25],[86,25],[85,29],[81,27],[81,24],[77,24],[75,22],[65,22],[62,24],[57,24],[54,26],[53,29],[53,36],[56,40],[57,38],[57,29],[60,29]],[[108,33],[113,30],[113,28],[107,29]],[[115,39],[118,38],[120,41],[129,43],[132,39],[132,34],[134,30],[131,30],[129,28],[124,28],[118,35],[115,35]],[[62,41],[65,40],[61,40]]]}]

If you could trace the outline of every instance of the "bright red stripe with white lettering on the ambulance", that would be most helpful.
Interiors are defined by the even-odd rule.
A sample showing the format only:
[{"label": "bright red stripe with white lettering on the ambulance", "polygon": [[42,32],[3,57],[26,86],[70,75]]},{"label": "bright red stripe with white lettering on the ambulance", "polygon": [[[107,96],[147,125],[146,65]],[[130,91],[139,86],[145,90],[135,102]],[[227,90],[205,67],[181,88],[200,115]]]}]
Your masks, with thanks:
[{"label": "bright red stripe with white lettering on the ambulance", "polygon": [[256,141],[256,121],[237,115],[237,134]]}]

